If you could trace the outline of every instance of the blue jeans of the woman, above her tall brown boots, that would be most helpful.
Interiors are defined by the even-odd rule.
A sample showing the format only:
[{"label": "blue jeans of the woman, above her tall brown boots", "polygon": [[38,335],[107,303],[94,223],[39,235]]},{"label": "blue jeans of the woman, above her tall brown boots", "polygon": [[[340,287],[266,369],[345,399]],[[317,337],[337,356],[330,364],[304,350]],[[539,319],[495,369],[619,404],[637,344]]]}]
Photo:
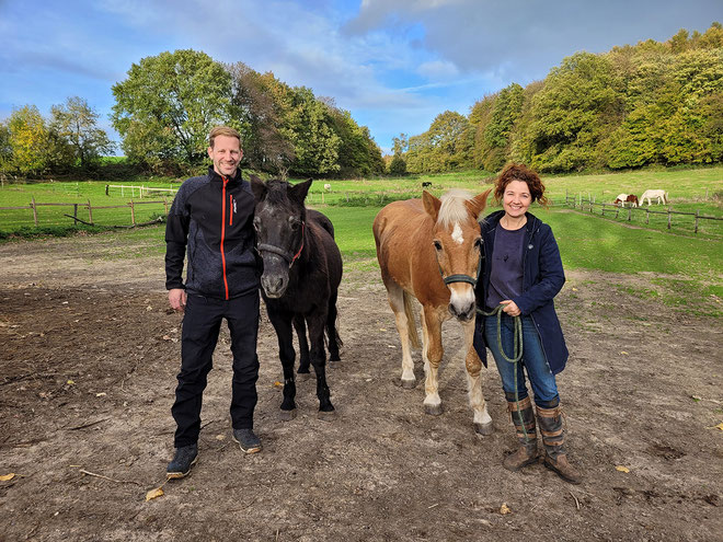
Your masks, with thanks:
[{"label": "blue jeans of the woman, above her tall brown boots", "polygon": [[[520,316],[523,319],[523,359],[519,364],[510,364],[502,357],[497,345],[497,316],[484,316],[484,338],[487,347],[492,351],[497,370],[502,378],[502,389],[507,399],[514,397],[517,391],[519,399],[525,399],[527,385],[525,384],[525,373],[532,385],[535,402],[539,405],[542,402],[550,403],[558,401],[558,384],[554,374],[544,357],[540,336],[535,328],[532,318]],[[501,337],[505,355],[514,358],[514,321],[507,314],[502,315]],[[517,382],[515,382],[515,365],[517,365]],[[524,370],[523,370],[524,368]]]}]

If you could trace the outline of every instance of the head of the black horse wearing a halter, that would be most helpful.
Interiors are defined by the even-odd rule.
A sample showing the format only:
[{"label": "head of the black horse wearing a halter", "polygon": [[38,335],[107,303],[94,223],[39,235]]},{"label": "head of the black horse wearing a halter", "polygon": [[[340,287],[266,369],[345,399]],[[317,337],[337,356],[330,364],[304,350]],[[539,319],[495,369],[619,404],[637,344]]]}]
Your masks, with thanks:
[{"label": "head of the black horse wearing a halter", "polygon": [[261,286],[269,298],[280,298],[289,284],[289,269],[303,250],[307,197],[311,178],[296,185],[251,175],[256,206],[253,227],[256,250],[264,261]]}]

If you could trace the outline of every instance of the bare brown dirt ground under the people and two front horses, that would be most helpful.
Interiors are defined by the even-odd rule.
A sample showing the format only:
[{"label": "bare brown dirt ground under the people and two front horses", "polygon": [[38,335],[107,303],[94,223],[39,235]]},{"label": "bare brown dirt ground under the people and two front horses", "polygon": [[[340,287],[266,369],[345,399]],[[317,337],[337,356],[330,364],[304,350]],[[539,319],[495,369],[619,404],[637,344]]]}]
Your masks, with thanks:
[{"label": "bare brown dirt ground under the people and two front horses", "polygon": [[[558,297],[579,486],[541,465],[502,468],[515,438],[494,364],[483,390],[495,431],[474,434],[451,322],[444,413],[425,415],[423,385],[395,383],[400,343],[378,274],[351,270],[342,361],[329,369],[337,418],[317,419],[312,379],[297,384],[298,417],[278,420],[264,318],[264,450],[244,455],[231,441],[223,332],[199,461],[147,501],[173,452],[181,316],[167,310],[162,256],[112,252],[104,235],[0,245],[0,475],[14,473],[0,482],[0,540],[723,540],[720,321],[628,293],[652,287],[644,275],[571,272]],[[415,362],[422,378],[418,351]]]}]

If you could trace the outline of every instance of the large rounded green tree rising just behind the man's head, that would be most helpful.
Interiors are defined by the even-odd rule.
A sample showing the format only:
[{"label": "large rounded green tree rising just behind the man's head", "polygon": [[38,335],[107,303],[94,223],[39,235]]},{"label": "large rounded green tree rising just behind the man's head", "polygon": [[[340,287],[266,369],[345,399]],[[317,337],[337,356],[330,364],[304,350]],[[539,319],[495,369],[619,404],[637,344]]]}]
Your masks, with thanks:
[{"label": "large rounded green tree rising just behind the man's head", "polygon": [[243,129],[232,106],[231,76],[205,53],[146,57],[113,85],[113,94],[112,120],[126,155],[156,169],[202,163],[216,125]]}]

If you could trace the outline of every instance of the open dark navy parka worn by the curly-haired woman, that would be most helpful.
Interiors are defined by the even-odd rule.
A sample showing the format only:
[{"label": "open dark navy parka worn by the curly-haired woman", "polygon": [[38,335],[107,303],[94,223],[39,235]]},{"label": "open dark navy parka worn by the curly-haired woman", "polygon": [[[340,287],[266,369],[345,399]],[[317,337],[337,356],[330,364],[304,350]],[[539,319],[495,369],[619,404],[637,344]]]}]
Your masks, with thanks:
[{"label": "open dark navy parka worn by the curly-haired woman", "polygon": [[[477,304],[484,310],[484,301],[490,287],[492,252],[495,230],[504,210],[493,212],[480,223],[483,242],[482,272],[477,285]],[[523,293],[513,298],[523,315],[530,315],[542,343],[542,350],[553,374],[565,368],[567,346],[560,327],[552,299],[565,284],[560,250],[552,229],[539,218],[527,212],[525,249],[523,254]],[[486,358],[484,341],[484,318],[478,316],[474,328],[474,348],[481,359]],[[486,364],[485,364],[486,365]]]}]

